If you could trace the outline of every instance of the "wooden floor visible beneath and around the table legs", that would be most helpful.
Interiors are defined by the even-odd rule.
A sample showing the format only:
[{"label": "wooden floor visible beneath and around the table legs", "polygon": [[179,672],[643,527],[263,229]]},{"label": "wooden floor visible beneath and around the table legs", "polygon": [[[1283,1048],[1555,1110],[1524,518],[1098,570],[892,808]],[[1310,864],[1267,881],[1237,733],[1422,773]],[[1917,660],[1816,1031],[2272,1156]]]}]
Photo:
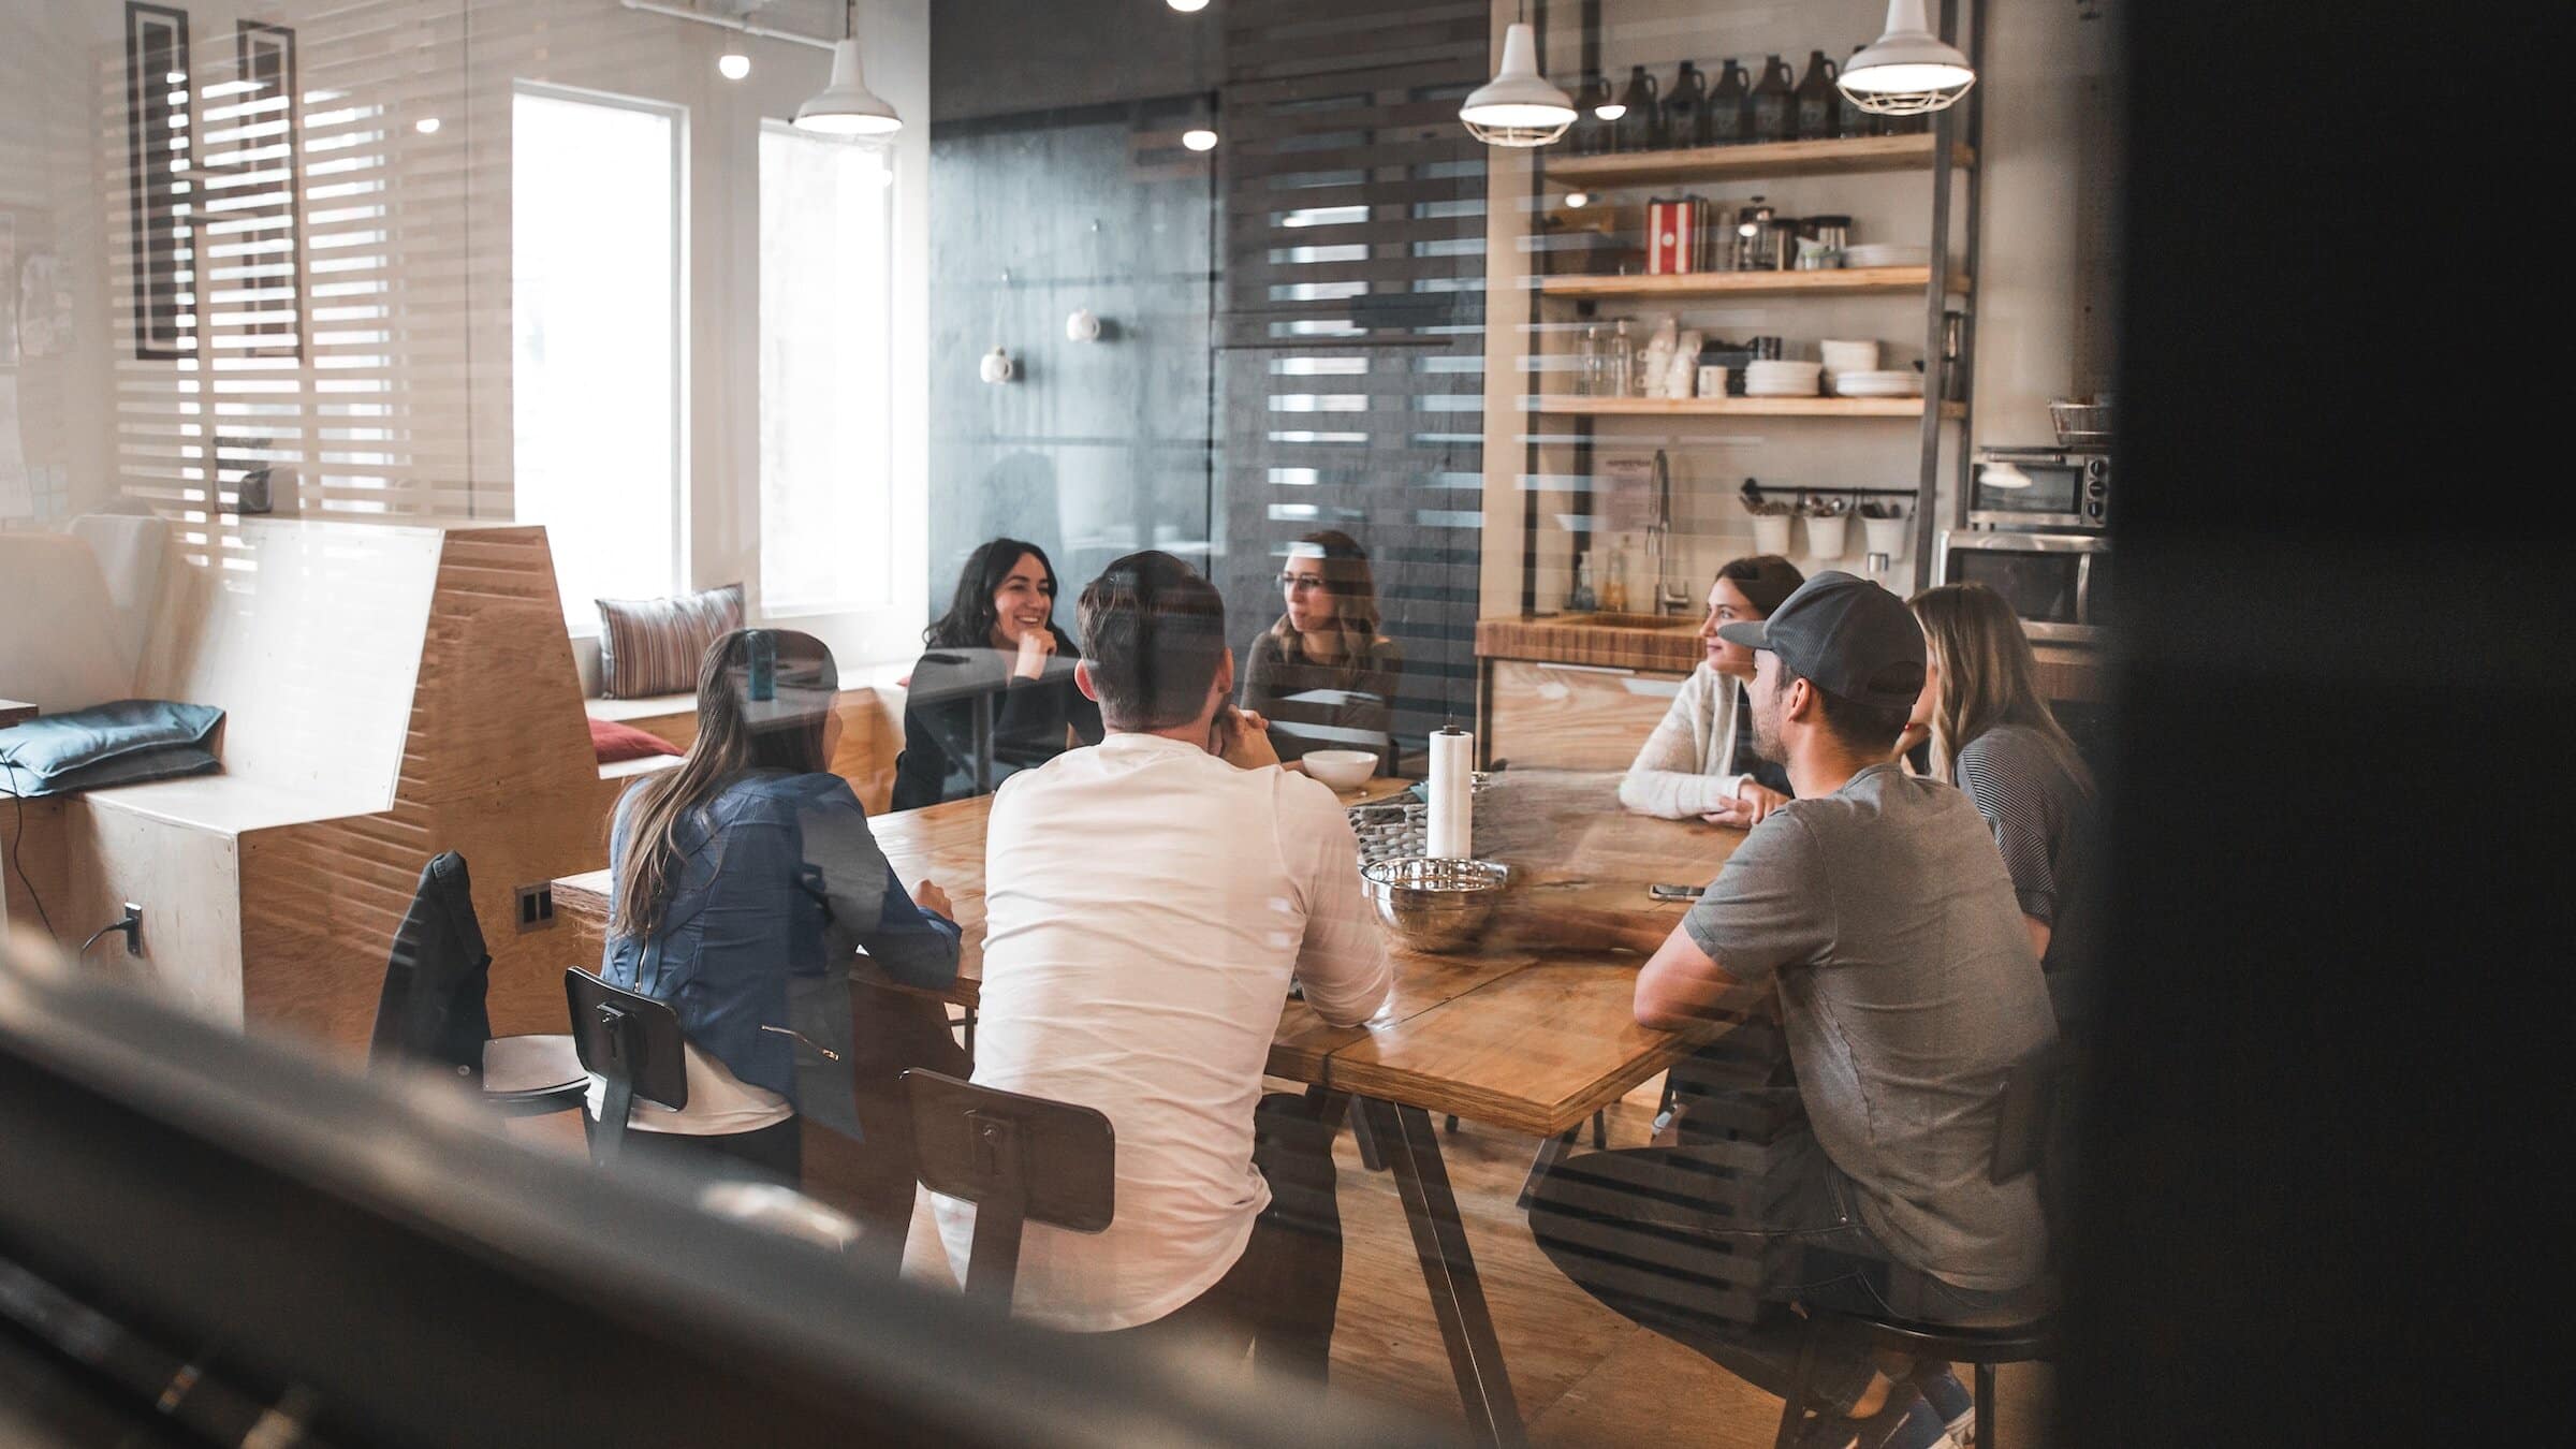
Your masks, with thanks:
[{"label": "wooden floor visible beneath and around the table legs", "polygon": [[[1646,1085],[1613,1109],[1613,1147],[1646,1142],[1654,1096],[1656,1088]],[[1530,1439],[1767,1446],[1780,1426],[1777,1397],[1605,1310],[1538,1250],[1515,1207],[1535,1150],[1528,1137],[1476,1124],[1461,1124],[1443,1145]],[[1345,1261],[1332,1392],[1463,1423],[1394,1176],[1365,1171],[1347,1132],[1337,1145],[1337,1165]],[[904,1271],[953,1281],[938,1230],[920,1204]],[[1996,1439],[2009,1449],[2043,1444],[2045,1379],[2048,1372],[2038,1366],[2002,1372]]]}]

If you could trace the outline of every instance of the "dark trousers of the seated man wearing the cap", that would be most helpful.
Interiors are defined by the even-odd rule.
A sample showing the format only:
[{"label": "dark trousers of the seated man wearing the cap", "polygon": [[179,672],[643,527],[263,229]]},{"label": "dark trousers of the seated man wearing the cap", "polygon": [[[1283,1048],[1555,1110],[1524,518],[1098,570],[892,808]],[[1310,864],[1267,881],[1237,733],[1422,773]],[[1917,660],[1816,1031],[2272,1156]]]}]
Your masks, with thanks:
[{"label": "dark trousers of the seated man wearing the cap", "polygon": [[[1783,1397],[1808,1333],[1790,1302],[1935,1323],[2030,1307],[2035,1289],[1955,1289],[1896,1263],[1855,1201],[1798,1124],[1770,1145],[1571,1155],[1538,1186],[1530,1232],[1607,1307]],[[1847,1413],[1875,1369],[1865,1336],[1829,1336],[1811,1390]]]}]

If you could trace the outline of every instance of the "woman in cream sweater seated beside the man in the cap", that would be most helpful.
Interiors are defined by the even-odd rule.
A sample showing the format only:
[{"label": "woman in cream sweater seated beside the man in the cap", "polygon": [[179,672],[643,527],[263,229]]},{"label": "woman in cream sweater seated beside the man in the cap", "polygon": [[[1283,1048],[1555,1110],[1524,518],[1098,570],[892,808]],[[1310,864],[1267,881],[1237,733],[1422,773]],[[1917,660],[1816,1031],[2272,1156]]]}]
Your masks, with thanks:
[{"label": "woman in cream sweater seated beside the man in the cap", "polygon": [[1708,619],[1700,645],[1708,657],[1682,681],[1672,709],[1646,735],[1646,748],[1618,781],[1618,802],[1638,815],[1710,825],[1759,825],[1788,804],[1788,771],[1780,761],[1754,753],[1752,704],[1744,686],[1754,678],[1754,652],[1718,637],[1721,624],[1770,619],[1806,575],[1780,554],[1728,559],[1708,585]]}]

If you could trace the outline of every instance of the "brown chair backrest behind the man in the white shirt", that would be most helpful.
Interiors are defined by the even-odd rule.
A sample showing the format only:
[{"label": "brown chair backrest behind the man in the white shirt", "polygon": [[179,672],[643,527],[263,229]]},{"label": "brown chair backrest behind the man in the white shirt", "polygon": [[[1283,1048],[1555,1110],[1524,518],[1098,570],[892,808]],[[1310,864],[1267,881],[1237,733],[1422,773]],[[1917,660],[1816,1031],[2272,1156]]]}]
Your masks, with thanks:
[{"label": "brown chair backrest behind the man in the white shirt", "polygon": [[1020,1225],[1103,1232],[1118,1209],[1118,1134],[1090,1106],[904,1073],[922,1186],[976,1204],[966,1297],[1010,1310]]}]

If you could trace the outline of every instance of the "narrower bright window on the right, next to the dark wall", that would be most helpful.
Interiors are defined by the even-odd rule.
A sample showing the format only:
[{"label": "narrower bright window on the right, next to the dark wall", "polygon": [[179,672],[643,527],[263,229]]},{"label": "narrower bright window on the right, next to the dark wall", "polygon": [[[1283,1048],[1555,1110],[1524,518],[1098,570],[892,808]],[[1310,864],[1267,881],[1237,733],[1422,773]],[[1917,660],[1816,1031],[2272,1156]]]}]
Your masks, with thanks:
[{"label": "narrower bright window on the right, next to the dark wall", "polygon": [[881,144],[760,131],[760,608],[891,603],[894,173]]}]

